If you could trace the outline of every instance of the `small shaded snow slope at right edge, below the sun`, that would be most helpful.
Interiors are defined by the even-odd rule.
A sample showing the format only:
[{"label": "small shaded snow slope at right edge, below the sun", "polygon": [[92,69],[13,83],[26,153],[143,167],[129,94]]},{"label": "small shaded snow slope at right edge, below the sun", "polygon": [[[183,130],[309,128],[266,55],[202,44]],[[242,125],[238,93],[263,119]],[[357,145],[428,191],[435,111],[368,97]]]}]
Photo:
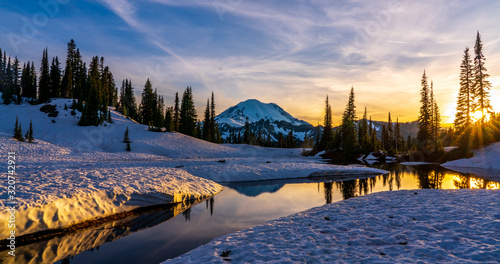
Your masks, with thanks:
[{"label": "small shaded snow slope at right edge, below the sun", "polygon": [[449,161],[441,166],[457,171],[460,168],[498,170],[500,174],[500,142],[475,150],[472,158]]}]

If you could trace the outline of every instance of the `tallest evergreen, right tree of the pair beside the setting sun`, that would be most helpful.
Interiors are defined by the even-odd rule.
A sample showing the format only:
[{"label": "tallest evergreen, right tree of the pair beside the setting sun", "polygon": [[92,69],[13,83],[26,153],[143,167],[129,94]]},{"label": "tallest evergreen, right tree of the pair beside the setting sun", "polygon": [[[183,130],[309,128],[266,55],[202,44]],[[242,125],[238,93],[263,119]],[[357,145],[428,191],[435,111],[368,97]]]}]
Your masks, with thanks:
[{"label": "tallest evergreen, right tree of the pair beside the setting sun", "polygon": [[481,35],[479,31],[477,32],[476,44],[474,45],[474,98],[475,103],[473,105],[473,112],[481,111],[481,127],[484,126],[484,121],[486,120],[486,114],[492,114],[493,110],[490,103],[490,93],[491,83],[488,80],[490,75],[487,72],[484,62],[486,58],[483,55],[483,43],[481,41]]}]

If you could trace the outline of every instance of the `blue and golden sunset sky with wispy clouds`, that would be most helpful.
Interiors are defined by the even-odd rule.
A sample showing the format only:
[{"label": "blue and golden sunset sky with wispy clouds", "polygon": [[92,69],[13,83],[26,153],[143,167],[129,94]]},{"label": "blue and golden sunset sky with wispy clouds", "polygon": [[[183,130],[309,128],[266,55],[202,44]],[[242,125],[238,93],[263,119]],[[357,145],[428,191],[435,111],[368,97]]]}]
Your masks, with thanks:
[{"label": "blue and golden sunset sky with wispy clouds", "polygon": [[415,120],[425,69],[446,123],[477,30],[500,111],[498,10],[494,0],[2,1],[0,47],[39,65],[46,46],[64,61],[73,38],[137,94],[150,78],[168,104],[190,85],[199,110],[214,91],[218,112],[256,98],[313,124],[327,94],[339,122],[351,86],[358,115]]}]

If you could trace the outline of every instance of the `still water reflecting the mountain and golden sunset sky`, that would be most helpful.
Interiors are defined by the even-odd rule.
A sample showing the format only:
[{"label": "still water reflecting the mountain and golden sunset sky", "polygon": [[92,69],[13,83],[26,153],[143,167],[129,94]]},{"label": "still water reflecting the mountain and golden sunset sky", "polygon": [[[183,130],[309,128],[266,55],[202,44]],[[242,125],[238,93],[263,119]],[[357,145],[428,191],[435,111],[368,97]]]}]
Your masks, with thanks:
[{"label": "still water reflecting the mountain and golden sunset sky", "polygon": [[[348,181],[335,181],[334,177],[330,177],[229,184],[215,197],[196,205],[130,217],[121,224],[107,223],[81,231],[81,234],[71,234],[72,237],[67,239],[56,238],[59,240],[52,243],[44,241],[27,245],[21,251],[30,252],[25,255],[26,260],[38,259],[49,263],[56,260],[59,260],[57,263],[85,264],[159,263],[228,233],[373,192],[422,188],[500,188],[498,182],[439,166],[384,166],[391,171],[390,174]],[[54,245],[57,249],[47,250]],[[40,255],[42,251],[45,251],[43,256]]]}]

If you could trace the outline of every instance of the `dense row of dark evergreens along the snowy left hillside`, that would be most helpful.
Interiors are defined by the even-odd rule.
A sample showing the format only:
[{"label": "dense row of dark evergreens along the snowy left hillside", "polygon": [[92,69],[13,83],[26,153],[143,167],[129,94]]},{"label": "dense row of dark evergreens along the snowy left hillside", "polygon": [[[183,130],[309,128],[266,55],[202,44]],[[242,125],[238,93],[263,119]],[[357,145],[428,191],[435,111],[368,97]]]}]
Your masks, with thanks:
[{"label": "dense row of dark evergreens along the snowy left hillside", "polygon": [[[142,90],[141,102],[136,103],[132,80],[122,81],[120,92],[113,74],[104,64],[104,57],[95,56],[87,64],[72,39],[67,44],[66,64],[61,68],[59,58],[53,57],[49,65],[48,49],[42,54],[40,73],[34,62],[20,67],[0,48],[0,92],[4,104],[21,104],[25,98],[31,104],[49,102],[50,98],[72,98],[72,108],[81,112],[78,125],[98,126],[112,122],[109,106],[116,107],[127,118],[148,125],[150,131],[180,132],[211,142],[222,142],[215,121],[215,96],[207,101],[204,121],[197,119],[191,87],[187,87],[179,100],[175,94],[174,106],[166,106],[162,95],[148,79]],[[211,101],[210,101],[211,100]]]}]

